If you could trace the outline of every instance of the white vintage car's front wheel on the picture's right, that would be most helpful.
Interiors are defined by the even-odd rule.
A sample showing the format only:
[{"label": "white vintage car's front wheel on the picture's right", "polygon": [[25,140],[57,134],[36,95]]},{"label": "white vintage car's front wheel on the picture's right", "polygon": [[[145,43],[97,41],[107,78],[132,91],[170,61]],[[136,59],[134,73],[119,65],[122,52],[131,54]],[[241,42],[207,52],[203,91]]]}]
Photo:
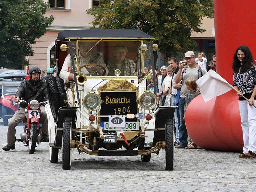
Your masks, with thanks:
[{"label": "white vintage car's front wheel on the picture's right", "polygon": [[167,119],[165,123],[165,170],[173,170],[173,121]]}]

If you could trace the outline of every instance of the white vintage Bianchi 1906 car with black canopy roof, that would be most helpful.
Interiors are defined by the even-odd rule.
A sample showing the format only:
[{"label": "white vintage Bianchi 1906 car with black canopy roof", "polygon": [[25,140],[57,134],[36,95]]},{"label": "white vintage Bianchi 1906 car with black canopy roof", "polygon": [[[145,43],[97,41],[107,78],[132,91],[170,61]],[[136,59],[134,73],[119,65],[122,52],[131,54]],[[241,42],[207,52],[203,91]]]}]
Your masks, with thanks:
[{"label": "white vintage Bianchi 1906 car with black canopy roof", "polygon": [[165,149],[165,170],[173,170],[175,108],[157,108],[144,76],[144,66],[155,68],[153,40],[140,30],[59,33],[57,76],[46,80],[51,163],[58,162],[61,148],[63,169],[71,168],[74,149],[96,156],[141,156],[143,162]]}]

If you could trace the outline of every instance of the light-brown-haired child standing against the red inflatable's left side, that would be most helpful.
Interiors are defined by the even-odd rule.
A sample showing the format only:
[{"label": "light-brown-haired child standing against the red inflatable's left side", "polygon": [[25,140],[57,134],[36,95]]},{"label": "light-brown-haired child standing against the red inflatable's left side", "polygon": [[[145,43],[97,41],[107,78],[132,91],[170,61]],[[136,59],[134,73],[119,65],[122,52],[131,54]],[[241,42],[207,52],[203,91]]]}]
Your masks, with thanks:
[{"label": "light-brown-haired child standing against the red inflatable's left side", "polygon": [[[186,87],[189,90],[189,92],[188,92],[188,94],[185,97],[184,120],[185,120],[185,115],[186,115],[186,110],[187,110],[188,104],[197,95],[200,94],[200,92],[196,92],[196,80],[195,79],[189,78],[189,79],[186,80],[185,83],[186,83]],[[191,139],[189,134],[188,134],[188,143],[190,143],[190,144],[188,145],[188,147],[186,147],[186,149],[197,149],[196,143],[194,143],[194,141]]]}]

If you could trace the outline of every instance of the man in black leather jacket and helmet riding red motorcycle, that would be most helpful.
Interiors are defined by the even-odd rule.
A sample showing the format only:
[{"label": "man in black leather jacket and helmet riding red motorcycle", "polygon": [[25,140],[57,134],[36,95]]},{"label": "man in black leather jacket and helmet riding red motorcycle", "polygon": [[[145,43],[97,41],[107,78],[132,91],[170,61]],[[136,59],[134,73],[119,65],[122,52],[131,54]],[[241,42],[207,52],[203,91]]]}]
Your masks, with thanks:
[{"label": "man in black leather jacket and helmet riding red motorcycle", "polygon": [[[28,103],[31,100],[37,100],[38,102],[42,102],[46,100],[48,101],[48,93],[46,88],[46,83],[41,81],[40,79],[41,70],[38,67],[31,67],[29,71],[30,79],[22,81],[20,84],[19,90],[16,92],[14,102],[19,102],[20,99],[27,101]],[[24,102],[20,103],[20,108],[15,112],[12,116],[10,122],[8,123],[8,131],[7,131],[7,145],[2,149],[5,151],[9,151],[10,149],[15,149],[15,132],[16,126],[25,118],[25,108],[27,104]],[[40,107],[40,123],[43,124],[43,141],[48,142],[48,122],[47,115],[44,110],[44,107]]]}]

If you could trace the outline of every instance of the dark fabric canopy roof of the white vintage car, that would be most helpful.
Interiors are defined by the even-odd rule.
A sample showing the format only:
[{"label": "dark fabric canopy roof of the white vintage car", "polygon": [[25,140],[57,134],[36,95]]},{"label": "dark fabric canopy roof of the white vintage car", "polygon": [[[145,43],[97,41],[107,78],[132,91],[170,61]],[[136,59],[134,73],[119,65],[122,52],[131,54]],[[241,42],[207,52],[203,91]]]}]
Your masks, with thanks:
[{"label": "dark fabric canopy roof of the white vintage car", "polygon": [[83,29],[60,31],[57,41],[67,39],[154,39],[136,29]]}]

